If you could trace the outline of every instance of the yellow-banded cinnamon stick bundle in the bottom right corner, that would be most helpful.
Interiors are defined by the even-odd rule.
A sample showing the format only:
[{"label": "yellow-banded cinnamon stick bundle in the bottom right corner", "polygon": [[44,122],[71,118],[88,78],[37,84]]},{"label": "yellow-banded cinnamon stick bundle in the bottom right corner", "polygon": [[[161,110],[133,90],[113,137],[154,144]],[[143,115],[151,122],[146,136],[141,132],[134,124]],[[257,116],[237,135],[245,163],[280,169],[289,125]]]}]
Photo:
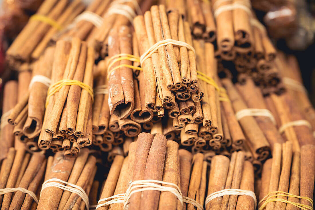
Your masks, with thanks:
[{"label": "yellow-banded cinnamon stick bundle in the bottom right corner", "polygon": [[314,145],[304,145],[297,151],[289,141],[276,143],[272,159],[263,165],[259,209],[312,207],[314,154]]}]

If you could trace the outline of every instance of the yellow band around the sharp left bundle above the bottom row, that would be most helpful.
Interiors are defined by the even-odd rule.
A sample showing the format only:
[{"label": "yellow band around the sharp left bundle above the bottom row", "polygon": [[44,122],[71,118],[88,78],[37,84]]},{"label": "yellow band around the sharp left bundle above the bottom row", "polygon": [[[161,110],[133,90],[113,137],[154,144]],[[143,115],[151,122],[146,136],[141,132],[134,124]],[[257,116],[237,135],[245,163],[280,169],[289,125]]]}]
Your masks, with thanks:
[{"label": "yellow band around the sharp left bundle above the bottom row", "polygon": [[46,98],[46,104],[45,106],[47,107],[48,102],[49,102],[49,98],[51,96],[53,96],[58,90],[61,89],[61,87],[65,86],[65,85],[78,85],[80,86],[82,89],[85,89],[86,91],[88,91],[88,93],[90,94],[92,101],[94,101],[94,93],[93,93],[93,89],[91,88],[91,86],[78,81],[78,80],[73,80],[73,79],[62,79],[59,82],[56,82],[54,85],[51,85],[48,88],[47,91],[47,98]]}]

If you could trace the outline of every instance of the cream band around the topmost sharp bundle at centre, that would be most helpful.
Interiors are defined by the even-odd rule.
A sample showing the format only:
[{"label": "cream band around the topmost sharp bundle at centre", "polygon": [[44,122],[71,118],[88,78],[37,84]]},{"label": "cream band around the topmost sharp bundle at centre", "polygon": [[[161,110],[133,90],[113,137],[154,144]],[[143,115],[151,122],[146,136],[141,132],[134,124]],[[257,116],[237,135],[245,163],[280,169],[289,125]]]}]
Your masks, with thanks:
[{"label": "cream band around the topmost sharp bundle at centre", "polygon": [[142,66],[143,61],[145,61],[147,58],[151,57],[151,55],[155,51],[157,51],[157,49],[159,49],[159,47],[162,47],[162,46],[165,46],[168,44],[186,47],[188,50],[192,50],[196,56],[195,49],[191,45],[187,44],[186,42],[182,42],[182,41],[178,41],[178,40],[174,40],[174,39],[165,39],[165,40],[161,40],[161,41],[153,44],[148,50],[146,50],[145,53],[143,53],[140,56],[140,65]]}]

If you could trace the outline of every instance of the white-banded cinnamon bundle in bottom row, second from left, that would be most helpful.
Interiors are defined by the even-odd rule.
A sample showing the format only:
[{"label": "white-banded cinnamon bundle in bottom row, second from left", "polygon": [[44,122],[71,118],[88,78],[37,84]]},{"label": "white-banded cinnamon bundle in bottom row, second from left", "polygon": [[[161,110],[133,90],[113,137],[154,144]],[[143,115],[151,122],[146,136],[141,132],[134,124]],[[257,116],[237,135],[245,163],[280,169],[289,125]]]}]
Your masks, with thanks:
[{"label": "white-banded cinnamon bundle in bottom row, second from left", "polygon": [[[89,202],[85,198],[89,195],[97,171],[95,156],[89,155],[89,149],[83,148],[77,158],[57,152],[54,157],[49,157],[49,162],[37,209],[88,209],[86,204],[89,205]],[[65,183],[70,190],[52,185],[61,184],[63,187]],[[84,191],[85,195],[72,189]]]}]

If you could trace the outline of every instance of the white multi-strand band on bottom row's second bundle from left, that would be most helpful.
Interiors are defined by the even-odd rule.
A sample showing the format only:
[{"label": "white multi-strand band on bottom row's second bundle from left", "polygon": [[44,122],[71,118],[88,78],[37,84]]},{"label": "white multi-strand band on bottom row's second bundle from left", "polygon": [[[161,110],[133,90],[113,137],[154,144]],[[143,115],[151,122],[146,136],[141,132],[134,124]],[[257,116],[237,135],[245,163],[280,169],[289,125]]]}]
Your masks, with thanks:
[{"label": "white multi-strand band on bottom row's second bundle from left", "polygon": [[[63,185],[63,184],[60,184],[58,182],[61,182],[63,184],[67,184],[67,185]],[[47,187],[58,187],[62,190],[66,190],[66,191],[69,191],[69,192],[72,192],[72,193],[79,195],[82,198],[83,202],[85,203],[86,209],[89,210],[89,208],[90,208],[89,196],[85,193],[85,191],[83,190],[82,187],[77,186],[75,184],[65,182],[61,179],[51,178],[51,179],[46,180],[43,183],[42,190],[40,191],[40,195],[42,194],[42,191]],[[39,197],[40,197],[40,195],[39,195]]]}]

